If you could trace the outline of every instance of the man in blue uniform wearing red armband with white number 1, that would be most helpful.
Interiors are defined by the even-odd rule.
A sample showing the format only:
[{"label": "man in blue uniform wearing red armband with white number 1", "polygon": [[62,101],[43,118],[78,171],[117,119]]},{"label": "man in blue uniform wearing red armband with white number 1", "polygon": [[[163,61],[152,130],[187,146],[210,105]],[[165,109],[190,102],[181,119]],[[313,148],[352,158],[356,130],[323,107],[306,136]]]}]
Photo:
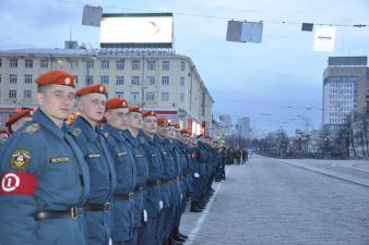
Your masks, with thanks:
[{"label": "man in blue uniform wearing red armband with white number 1", "polygon": [[1,150],[0,243],[87,245],[88,169],[64,124],[74,77],[50,71],[36,84],[39,109]]}]

